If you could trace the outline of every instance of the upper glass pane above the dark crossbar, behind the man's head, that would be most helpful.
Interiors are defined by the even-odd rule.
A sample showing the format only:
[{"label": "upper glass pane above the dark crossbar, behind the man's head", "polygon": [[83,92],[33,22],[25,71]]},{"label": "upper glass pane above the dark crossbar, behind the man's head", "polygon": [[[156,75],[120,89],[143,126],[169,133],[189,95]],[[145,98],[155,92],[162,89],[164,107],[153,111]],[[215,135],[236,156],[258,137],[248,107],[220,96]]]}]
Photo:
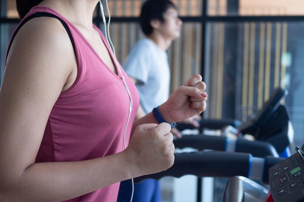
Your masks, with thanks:
[{"label": "upper glass pane above the dark crossbar, behind the man's head", "polygon": [[[141,4],[145,0],[108,0],[111,16],[137,17],[140,14]],[[172,0],[178,7],[180,16],[202,15],[202,0]],[[104,3],[104,9],[106,10]],[[107,16],[107,12],[106,16]]]}]

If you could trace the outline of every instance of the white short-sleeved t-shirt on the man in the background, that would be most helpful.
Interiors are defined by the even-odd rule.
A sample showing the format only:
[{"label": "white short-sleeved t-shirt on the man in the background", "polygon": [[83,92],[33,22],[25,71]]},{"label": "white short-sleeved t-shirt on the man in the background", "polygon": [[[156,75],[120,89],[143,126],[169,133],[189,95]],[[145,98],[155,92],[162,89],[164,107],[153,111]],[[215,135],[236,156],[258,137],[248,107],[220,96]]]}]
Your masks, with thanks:
[{"label": "white short-sleeved t-shirt on the man in the background", "polygon": [[152,40],[139,40],[122,66],[137,80],[140,104],[145,113],[167,101],[170,87],[168,55]]}]

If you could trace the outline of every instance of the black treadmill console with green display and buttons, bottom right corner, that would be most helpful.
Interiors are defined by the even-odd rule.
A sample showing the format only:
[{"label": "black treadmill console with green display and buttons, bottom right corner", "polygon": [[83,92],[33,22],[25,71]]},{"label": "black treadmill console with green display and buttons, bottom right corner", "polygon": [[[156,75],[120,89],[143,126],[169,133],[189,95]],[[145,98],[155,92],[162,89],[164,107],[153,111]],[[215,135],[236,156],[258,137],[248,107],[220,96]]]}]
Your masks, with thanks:
[{"label": "black treadmill console with green display and buttons, bottom right corner", "polygon": [[269,185],[275,202],[304,202],[304,145],[296,153],[272,166]]}]

